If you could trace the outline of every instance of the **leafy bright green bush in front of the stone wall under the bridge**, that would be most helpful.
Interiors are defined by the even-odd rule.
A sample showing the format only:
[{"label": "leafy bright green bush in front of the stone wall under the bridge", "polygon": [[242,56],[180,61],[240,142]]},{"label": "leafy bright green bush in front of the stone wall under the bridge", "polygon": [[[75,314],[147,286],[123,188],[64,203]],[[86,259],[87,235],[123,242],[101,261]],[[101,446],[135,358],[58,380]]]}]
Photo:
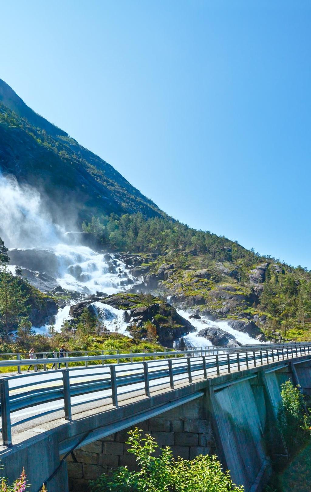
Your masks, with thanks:
[{"label": "leafy bright green bush in front of the stone wall under the bridge", "polygon": [[136,456],[139,471],[120,466],[91,482],[92,492],[242,492],[224,473],[216,457],[198,456],[188,461],[174,460],[169,447],[161,456],[152,454],[159,447],[153,437],[141,437],[141,430],[129,432],[128,450]]}]

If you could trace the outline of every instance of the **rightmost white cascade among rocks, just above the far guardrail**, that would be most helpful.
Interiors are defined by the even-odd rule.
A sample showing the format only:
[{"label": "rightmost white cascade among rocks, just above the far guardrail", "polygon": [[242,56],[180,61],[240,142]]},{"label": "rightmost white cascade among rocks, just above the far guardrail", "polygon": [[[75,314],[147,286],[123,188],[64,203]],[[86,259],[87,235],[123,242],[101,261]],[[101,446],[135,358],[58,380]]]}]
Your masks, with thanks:
[{"label": "rightmost white cascade among rocks, just above the far guardrail", "polygon": [[208,347],[212,345],[209,340],[206,340],[206,338],[197,336],[198,332],[204,328],[220,328],[224,332],[233,335],[233,337],[236,338],[236,340],[242,345],[255,345],[262,343],[259,340],[256,340],[256,338],[250,337],[247,333],[234,330],[225,320],[211,321],[203,315],[201,315],[201,319],[195,319],[189,318],[192,314],[191,312],[183,311],[181,309],[178,309],[177,312],[183,318],[188,319],[188,321],[190,321],[190,323],[196,328],[196,333],[190,333],[186,337],[183,337],[185,343],[189,343],[189,347]]}]

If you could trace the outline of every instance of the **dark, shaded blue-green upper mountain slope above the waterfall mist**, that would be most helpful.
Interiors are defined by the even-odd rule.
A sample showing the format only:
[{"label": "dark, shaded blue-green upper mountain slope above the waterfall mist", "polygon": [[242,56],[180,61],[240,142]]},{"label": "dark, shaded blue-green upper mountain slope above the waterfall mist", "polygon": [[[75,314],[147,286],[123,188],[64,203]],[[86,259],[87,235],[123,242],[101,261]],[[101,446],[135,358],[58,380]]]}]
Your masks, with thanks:
[{"label": "dark, shaded blue-green upper mountain slope above the waterfall mist", "polygon": [[41,116],[0,80],[0,171],[38,188],[54,215],[75,210],[165,214],[103,159]]}]

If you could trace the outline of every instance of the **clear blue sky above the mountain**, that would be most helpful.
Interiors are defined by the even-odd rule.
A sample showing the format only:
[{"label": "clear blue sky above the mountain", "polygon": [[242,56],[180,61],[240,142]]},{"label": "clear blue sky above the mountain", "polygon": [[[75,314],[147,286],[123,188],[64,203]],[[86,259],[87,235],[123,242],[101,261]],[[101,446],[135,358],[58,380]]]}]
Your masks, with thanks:
[{"label": "clear blue sky above the mountain", "polygon": [[310,0],[0,0],[0,78],[163,210],[311,269]]}]

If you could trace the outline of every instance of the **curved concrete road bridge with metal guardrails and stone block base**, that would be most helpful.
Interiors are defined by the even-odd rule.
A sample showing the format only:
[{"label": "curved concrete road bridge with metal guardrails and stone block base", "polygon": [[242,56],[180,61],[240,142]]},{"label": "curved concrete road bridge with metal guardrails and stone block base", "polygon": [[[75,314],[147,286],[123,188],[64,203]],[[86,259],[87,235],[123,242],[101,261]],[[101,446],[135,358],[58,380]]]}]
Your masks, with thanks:
[{"label": "curved concrete road bridge with metal guardrails and stone block base", "polygon": [[[276,425],[280,386],[290,378],[311,393],[310,349],[286,343],[41,354],[31,361],[37,370],[26,374],[29,359],[2,354],[0,366],[19,372],[0,379],[5,475],[13,480],[25,466],[33,492],[43,482],[49,492],[67,492],[68,483],[84,491],[107,467],[135,465],[124,431],[138,425],[176,456],[217,454],[235,483],[260,492],[271,460],[286,456]],[[64,368],[38,371],[58,362]]]}]

